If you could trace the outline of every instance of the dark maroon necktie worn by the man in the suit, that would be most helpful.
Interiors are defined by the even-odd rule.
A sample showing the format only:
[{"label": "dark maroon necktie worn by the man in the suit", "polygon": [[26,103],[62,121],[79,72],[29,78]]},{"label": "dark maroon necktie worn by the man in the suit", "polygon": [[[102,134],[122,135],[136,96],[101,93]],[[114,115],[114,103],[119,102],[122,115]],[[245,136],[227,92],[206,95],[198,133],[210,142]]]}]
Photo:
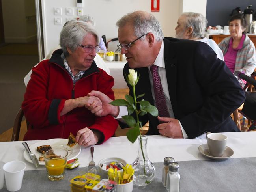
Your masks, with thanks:
[{"label": "dark maroon necktie worn by the man in the suit", "polygon": [[166,105],[163,87],[161,84],[161,79],[157,73],[157,68],[158,67],[156,65],[151,65],[150,67],[151,75],[153,78],[153,88],[155,92],[155,103],[157,104],[158,114],[160,117],[170,117]]}]

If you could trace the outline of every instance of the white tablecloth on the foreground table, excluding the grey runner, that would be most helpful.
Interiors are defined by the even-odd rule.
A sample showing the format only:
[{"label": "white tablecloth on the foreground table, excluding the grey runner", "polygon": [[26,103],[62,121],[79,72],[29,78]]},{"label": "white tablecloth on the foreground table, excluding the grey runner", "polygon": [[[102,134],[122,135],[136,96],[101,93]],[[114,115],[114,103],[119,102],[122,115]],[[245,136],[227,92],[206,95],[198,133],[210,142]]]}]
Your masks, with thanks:
[{"label": "white tablecloth on the foreground table, excluding the grey runner", "polygon": [[[228,147],[234,150],[231,158],[256,157],[256,132],[228,132]],[[32,145],[38,141],[28,141]],[[173,157],[176,161],[206,160],[201,155],[198,147],[206,143],[205,134],[196,139],[170,139],[164,136],[148,136],[148,157],[152,162],[163,162],[164,157]],[[47,142],[46,142],[47,144]],[[107,157],[120,157],[128,163],[135,160],[138,153],[138,142],[132,144],[126,136],[112,137],[101,145],[95,145],[94,157],[96,164]],[[23,157],[24,147],[22,142],[0,142],[0,161],[21,160],[26,162],[26,170],[34,170],[34,165]],[[80,167],[87,166],[90,162],[90,147],[82,147],[78,156]],[[44,169],[44,166],[39,166]]]}]

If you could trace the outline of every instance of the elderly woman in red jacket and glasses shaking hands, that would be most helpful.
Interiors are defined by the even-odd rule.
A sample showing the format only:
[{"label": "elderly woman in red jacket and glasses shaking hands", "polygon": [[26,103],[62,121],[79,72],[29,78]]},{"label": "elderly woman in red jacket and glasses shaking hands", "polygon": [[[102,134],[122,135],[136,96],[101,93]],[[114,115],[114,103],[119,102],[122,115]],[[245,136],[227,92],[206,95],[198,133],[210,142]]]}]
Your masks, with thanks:
[{"label": "elderly woman in red jacket and glasses shaking hands", "polygon": [[117,121],[110,115],[94,116],[86,106],[101,101],[87,96],[98,90],[114,99],[114,80],[93,58],[100,49],[97,32],[82,21],[68,22],[60,33],[61,49],[32,69],[22,109],[30,123],[24,140],[68,138],[79,145],[101,144],[110,138]]}]

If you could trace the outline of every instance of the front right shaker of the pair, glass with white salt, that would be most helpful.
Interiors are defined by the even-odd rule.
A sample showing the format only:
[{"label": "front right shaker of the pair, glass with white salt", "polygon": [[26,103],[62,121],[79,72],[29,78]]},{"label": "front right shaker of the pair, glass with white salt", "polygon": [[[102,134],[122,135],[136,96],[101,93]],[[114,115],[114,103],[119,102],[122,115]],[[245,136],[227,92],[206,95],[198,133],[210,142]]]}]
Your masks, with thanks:
[{"label": "front right shaker of the pair, glass with white salt", "polygon": [[172,162],[168,164],[168,168],[166,189],[168,192],[179,192],[179,164],[177,162]]}]

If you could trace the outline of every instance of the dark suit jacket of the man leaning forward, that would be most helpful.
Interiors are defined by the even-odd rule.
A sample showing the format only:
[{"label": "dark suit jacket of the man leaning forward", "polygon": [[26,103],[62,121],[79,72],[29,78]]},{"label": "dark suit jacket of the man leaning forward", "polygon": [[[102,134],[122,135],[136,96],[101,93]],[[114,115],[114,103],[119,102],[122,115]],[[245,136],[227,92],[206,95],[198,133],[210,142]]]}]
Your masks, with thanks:
[{"label": "dark suit jacket of the man leaning forward", "polygon": [[[164,38],[164,62],[170,101],[175,119],[194,138],[205,132],[239,131],[230,114],[245,101],[244,91],[226,64],[215,52],[199,41]],[[129,74],[129,63],[123,69]],[[136,95],[154,105],[147,67],[140,74]],[[125,78],[126,79],[126,78]],[[129,84],[127,84],[129,86]],[[129,94],[133,96],[131,86]],[[159,134],[157,117],[140,116],[142,126],[149,121],[148,135]],[[121,125],[123,127],[124,125]]]}]

